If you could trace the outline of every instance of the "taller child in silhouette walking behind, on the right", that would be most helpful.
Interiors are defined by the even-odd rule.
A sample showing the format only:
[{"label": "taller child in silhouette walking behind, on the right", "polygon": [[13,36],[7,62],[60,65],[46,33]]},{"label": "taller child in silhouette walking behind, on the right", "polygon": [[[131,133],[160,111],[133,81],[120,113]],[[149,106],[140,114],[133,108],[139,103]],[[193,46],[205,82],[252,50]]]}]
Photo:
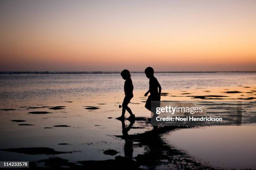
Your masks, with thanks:
[{"label": "taller child in silhouette walking behind, on the right", "polygon": [[146,77],[149,78],[149,90],[145,93],[144,96],[147,96],[150,92],[145,107],[151,111],[151,101],[160,101],[161,85],[157,81],[156,77],[154,77],[154,69],[152,67],[147,67],[145,69],[145,74]]}]

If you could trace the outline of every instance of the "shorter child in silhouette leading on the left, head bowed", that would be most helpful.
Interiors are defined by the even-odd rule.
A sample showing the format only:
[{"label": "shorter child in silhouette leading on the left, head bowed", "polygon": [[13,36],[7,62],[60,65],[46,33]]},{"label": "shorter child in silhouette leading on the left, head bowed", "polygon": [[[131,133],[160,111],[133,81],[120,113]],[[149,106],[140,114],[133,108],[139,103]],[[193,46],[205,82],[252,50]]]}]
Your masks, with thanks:
[{"label": "shorter child in silhouette leading on the left, head bowed", "polygon": [[129,102],[133,98],[133,82],[131,80],[131,74],[128,70],[123,70],[121,72],[121,76],[125,80],[125,84],[124,84],[125,97],[123,99],[122,115],[118,117],[118,119],[119,120],[124,119],[125,110],[127,110],[130,113],[130,117],[128,117],[128,119],[131,120],[135,118],[135,115],[133,115],[133,112],[131,111],[130,107],[128,107]]}]

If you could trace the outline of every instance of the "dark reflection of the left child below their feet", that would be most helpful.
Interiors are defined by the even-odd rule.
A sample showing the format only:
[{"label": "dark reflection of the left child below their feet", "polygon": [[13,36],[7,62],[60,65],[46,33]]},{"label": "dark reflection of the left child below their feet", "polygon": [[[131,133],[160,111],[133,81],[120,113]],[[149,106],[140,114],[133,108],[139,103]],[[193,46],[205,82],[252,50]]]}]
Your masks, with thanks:
[{"label": "dark reflection of the left child below their feet", "polygon": [[122,122],[123,139],[125,140],[124,153],[126,157],[132,158],[133,157],[133,140],[131,140],[131,138],[129,137],[128,131],[133,126],[134,120],[131,120],[130,124],[127,127],[125,126],[125,120],[121,120],[121,122]]}]

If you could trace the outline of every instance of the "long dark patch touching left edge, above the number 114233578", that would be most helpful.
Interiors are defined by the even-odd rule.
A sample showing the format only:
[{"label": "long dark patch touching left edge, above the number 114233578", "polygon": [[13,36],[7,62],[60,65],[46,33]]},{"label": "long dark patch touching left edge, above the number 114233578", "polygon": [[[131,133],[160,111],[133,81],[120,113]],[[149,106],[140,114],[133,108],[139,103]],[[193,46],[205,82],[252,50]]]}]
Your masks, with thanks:
[{"label": "long dark patch touching left edge, above the number 114233578", "polygon": [[10,149],[1,149],[3,151],[8,152],[15,152],[15,153],[25,153],[29,155],[56,155],[56,154],[62,154],[62,153],[72,153],[72,152],[61,152],[61,151],[55,151],[52,148],[10,148]]}]

